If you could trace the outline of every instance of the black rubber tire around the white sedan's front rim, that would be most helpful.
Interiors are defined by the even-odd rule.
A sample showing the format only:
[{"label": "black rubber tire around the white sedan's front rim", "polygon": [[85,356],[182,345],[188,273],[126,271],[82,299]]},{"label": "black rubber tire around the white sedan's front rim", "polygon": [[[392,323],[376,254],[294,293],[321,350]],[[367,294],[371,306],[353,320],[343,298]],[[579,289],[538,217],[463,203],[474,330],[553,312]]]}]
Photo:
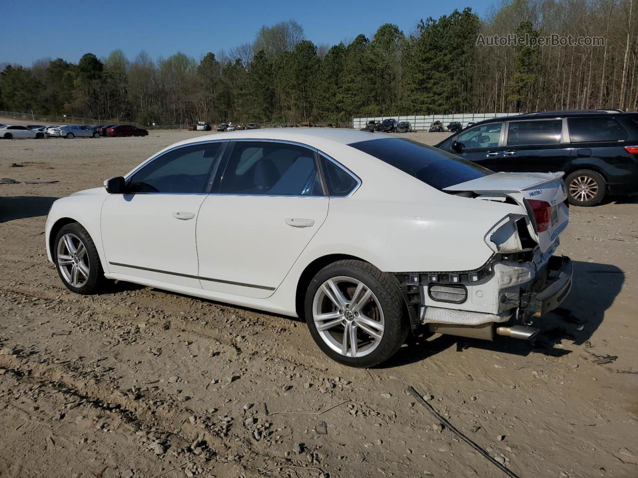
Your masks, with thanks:
[{"label": "black rubber tire around the white sedan's front rim", "polygon": [[[74,287],[71,285],[66,277],[64,277],[64,273],[61,271],[61,266],[59,264],[57,252],[59,243],[63,241],[63,237],[69,233],[80,240],[86,250],[85,257],[88,261],[89,277],[87,277],[84,284],[82,284],[80,287]],[[104,270],[102,269],[100,256],[98,255],[98,249],[95,247],[95,243],[93,242],[91,235],[89,235],[87,230],[84,229],[82,224],[80,224],[79,222],[71,222],[70,224],[66,224],[66,226],[63,226],[59,231],[57,231],[51,254],[56,264],[57,274],[62,280],[64,286],[66,286],[66,288],[69,289],[71,292],[86,295],[98,293],[103,289],[106,278],[104,277]]]}]

